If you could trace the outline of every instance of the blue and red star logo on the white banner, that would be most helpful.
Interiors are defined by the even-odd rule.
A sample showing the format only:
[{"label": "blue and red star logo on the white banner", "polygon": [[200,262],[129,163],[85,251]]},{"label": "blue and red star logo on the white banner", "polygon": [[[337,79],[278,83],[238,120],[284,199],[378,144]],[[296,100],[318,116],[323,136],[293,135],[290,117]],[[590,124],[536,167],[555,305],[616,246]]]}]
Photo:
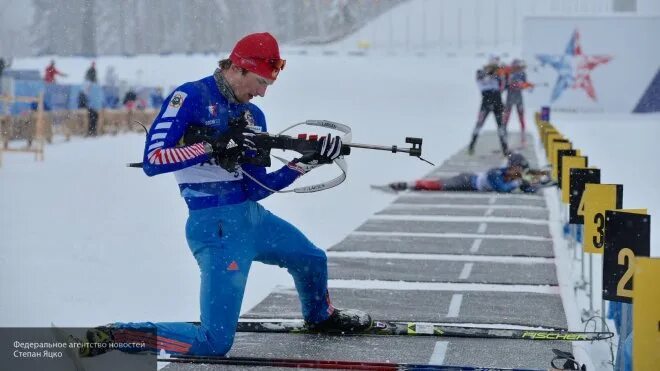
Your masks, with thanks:
[{"label": "blue and red star logo on the white banner", "polygon": [[595,102],[597,100],[596,90],[591,81],[591,71],[612,60],[612,56],[583,54],[580,33],[576,29],[566,45],[564,54],[537,54],[536,59],[541,62],[542,67],[547,64],[557,71],[558,76],[552,89],[551,102],[556,101],[569,88],[584,90],[587,96]]}]

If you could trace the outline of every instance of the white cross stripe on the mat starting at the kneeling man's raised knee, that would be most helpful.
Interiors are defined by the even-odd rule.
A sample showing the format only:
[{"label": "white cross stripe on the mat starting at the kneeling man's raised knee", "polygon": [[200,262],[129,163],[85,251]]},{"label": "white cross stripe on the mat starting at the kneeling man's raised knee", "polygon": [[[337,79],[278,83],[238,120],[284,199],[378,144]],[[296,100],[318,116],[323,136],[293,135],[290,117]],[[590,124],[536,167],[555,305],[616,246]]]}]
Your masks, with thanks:
[{"label": "white cross stripe on the mat starting at the kneeling man's raised knee", "polygon": [[326,251],[326,255],[328,258],[440,260],[466,263],[554,264],[555,262],[554,258],[508,255],[408,254],[371,251]]}]

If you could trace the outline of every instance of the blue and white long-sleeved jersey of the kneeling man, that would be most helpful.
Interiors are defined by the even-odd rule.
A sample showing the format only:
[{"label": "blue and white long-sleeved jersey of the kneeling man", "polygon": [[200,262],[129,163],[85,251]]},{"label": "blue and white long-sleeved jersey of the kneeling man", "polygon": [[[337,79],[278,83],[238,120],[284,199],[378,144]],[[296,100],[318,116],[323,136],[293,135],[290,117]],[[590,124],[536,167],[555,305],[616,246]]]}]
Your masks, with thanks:
[{"label": "blue and white long-sleeved jersey of the kneeling man", "polygon": [[[258,201],[272,192],[265,190],[240,172],[228,172],[205,153],[202,143],[177,146],[190,125],[204,125],[227,131],[230,118],[249,111],[253,131],[266,132],[263,112],[252,103],[230,103],[220,93],[213,76],[178,87],[170,94],[154,120],[144,149],[143,170],[149,175],[174,172],[181,196],[190,209]],[[289,167],[272,173],[260,166],[241,165],[259,182],[280,190],[301,174]]]}]

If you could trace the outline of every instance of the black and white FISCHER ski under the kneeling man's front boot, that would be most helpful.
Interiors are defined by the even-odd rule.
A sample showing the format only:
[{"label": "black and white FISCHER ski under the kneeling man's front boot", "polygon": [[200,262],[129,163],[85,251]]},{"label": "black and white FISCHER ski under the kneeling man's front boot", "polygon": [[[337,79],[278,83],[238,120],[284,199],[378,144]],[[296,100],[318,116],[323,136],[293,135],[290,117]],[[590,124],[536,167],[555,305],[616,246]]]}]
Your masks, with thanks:
[{"label": "black and white FISCHER ski under the kneeling man's front boot", "polygon": [[[239,332],[315,333],[305,327],[302,320],[240,321]],[[326,332],[333,334],[332,332]],[[334,333],[341,335],[341,333]],[[429,322],[374,321],[370,329],[352,335],[407,335],[437,337],[467,337],[521,340],[595,341],[614,336],[611,332],[573,332],[564,330],[512,329],[453,326]]]}]

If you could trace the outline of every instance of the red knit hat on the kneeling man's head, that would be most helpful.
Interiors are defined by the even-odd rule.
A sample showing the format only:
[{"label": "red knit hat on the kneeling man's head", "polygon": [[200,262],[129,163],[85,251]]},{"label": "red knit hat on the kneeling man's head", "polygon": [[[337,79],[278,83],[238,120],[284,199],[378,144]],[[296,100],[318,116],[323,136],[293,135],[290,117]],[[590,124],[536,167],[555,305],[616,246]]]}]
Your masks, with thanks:
[{"label": "red knit hat on the kneeling man's head", "polygon": [[286,65],[286,61],[280,59],[277,40],[268,32],[253,33],[240,39],[229,59],[236,66],[271,80],[275,80]]}]

